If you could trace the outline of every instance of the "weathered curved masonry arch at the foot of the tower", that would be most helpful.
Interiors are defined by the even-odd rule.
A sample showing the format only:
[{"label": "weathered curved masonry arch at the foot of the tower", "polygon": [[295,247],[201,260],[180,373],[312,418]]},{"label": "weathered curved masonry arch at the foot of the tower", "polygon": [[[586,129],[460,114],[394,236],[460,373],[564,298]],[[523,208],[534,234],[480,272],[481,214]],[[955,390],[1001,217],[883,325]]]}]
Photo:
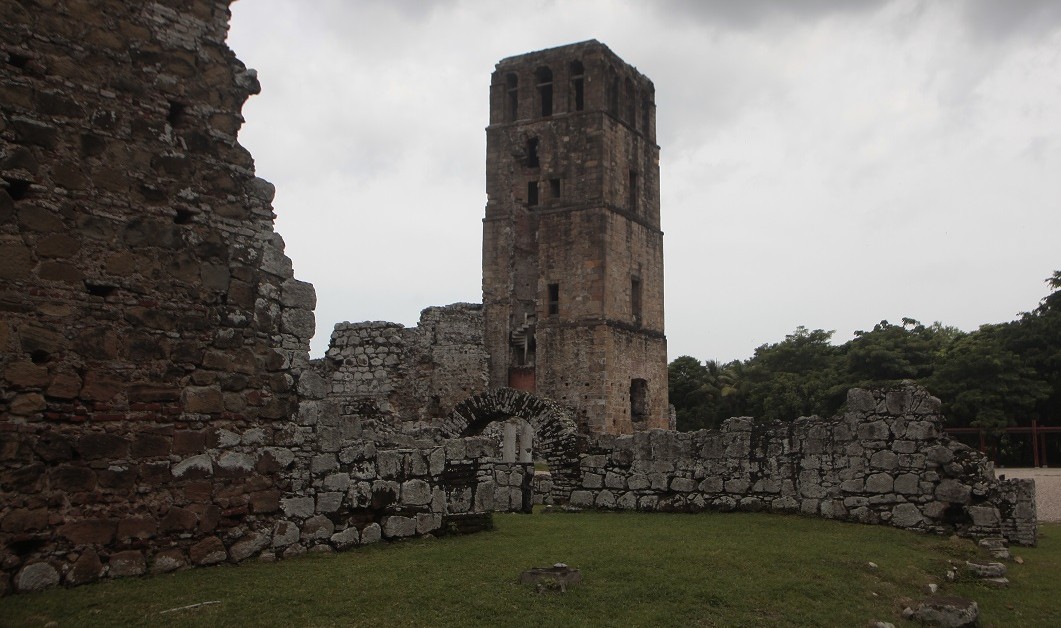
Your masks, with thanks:
[{"label": "weathered curved masonry arch at the foot of the tower", "polygon": [[553,474],[553,500],[567,502],[578,482],[578,426],[572,411],[522,390],[493,388],[458,403],[439,429],[449,438],[475,436],[512,417],[534,428],[535,451]]}]

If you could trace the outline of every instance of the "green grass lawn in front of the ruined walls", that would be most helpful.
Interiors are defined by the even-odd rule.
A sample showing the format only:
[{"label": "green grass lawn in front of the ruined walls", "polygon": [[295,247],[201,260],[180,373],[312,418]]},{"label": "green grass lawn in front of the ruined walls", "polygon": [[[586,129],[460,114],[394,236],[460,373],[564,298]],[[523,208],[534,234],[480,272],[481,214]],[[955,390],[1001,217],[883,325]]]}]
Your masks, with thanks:
[{"label": "green grass lawn in front of the ruined walls", "polygon": [[[751,513],[504,514],[467,537],[278,563],[191,570],[0,599],[0,625],[864,626],[902,625],[928,582],[980,605],[981,626],[1061,626],[1061,525],[1014,548],[1009,589],[943,580],[971,541]],[[566,594],[519,573],[567,562]],[[872,561],[879,569],[870,569]],[[220,604],[160,614],[186,605]]]}]

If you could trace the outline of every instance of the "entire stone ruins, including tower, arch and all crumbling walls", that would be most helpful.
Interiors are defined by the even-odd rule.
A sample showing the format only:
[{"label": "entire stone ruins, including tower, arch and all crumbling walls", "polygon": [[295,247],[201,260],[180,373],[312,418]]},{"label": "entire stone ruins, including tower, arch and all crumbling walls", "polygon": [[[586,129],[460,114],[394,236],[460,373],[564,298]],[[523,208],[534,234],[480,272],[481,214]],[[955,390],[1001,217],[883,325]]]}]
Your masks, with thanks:
[{"label": "entire stone ruins, including tower, arch and all crumbling walls", "polygon": [[484,304],[342,324],[310,361],[315,294],[237,141],[259,85],[228,20],[0,3],[0,594],[487,529],[536,486],[1034,543],[1033,484],[994,479],[918,388],[653,429],[654,93],[596,41],[494,73]]}]

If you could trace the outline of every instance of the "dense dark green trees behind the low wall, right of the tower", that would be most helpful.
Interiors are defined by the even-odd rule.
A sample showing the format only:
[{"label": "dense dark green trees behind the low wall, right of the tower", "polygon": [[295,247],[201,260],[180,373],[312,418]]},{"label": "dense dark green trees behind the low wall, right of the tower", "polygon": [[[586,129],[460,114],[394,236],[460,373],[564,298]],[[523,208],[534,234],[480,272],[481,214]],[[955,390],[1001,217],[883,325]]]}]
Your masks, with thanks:
[{"label": "dense dark green trees behind the low wall, right of the tower", "polygon": [[1046,283],[1051,292],[1033,311],[970,333],[903,318],[839,346],[833,332],[799,327],[745,361],[682,355],[669,365],[678,429],[716,428],[732,416],[830,416],[848,388],[904,380],[939,397],[952,426],[1061,424],[1061,271]]}]

